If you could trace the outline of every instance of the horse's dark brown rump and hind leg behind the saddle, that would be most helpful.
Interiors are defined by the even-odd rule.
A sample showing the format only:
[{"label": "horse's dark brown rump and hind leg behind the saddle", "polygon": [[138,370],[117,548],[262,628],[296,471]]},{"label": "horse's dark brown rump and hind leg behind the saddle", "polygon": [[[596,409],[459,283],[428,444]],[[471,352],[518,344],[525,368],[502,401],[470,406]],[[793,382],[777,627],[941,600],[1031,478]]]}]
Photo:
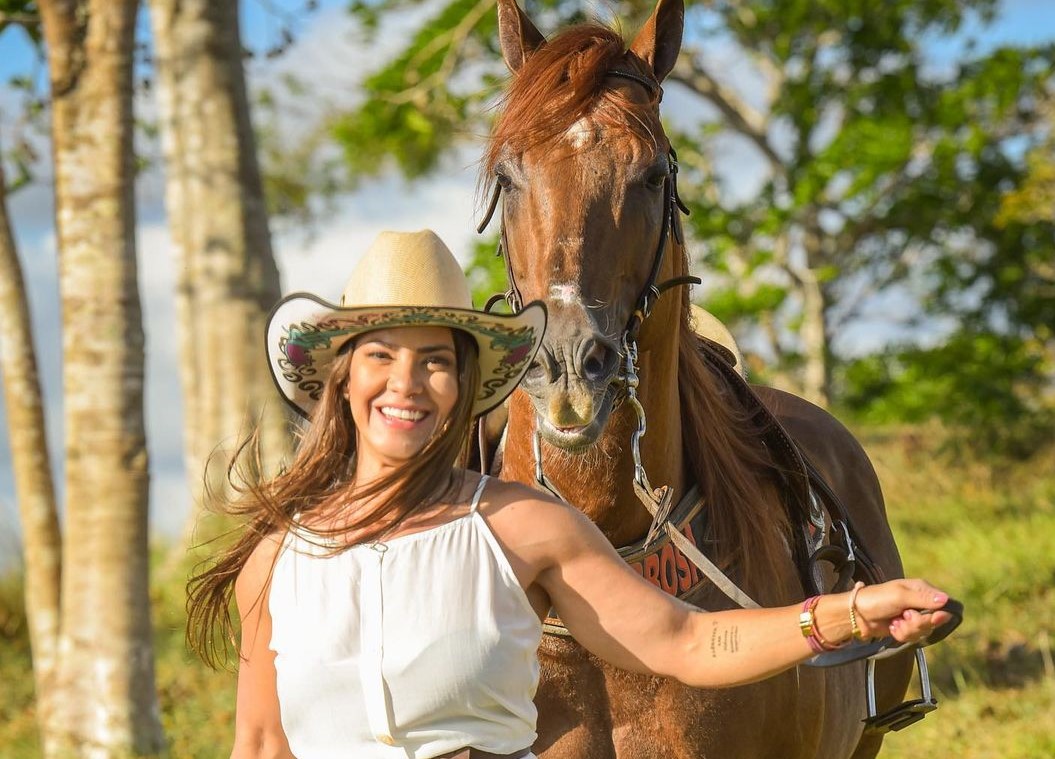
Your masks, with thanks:
[{"label": "horse's dark brown rump and hind leg behind the saddle", "polygon": [[[809,401],[771,387],[754,390],[843,501],[865,553],[886,578],[903,576],[879,478],[861,444],[835,417]],[[913,661],[912,656],[903,654],[877,663],[876,704],[880,713],[903,700]],[[853,759],[872,759],[881,743],[882,737],[862,737]]]}]

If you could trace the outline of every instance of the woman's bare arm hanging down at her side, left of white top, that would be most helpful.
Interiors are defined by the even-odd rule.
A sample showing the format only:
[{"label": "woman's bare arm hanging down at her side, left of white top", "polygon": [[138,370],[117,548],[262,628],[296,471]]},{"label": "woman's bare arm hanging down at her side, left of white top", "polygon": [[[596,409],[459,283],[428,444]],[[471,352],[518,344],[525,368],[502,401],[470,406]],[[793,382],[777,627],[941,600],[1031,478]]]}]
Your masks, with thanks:
[{"label": "woman's bare arm hanging down at her side, left of white top", "polygon": [[242,618],[238,690],[231,759],[294,759],[279,716],[268,589],[280,536],[264,538],[234,583]]}]

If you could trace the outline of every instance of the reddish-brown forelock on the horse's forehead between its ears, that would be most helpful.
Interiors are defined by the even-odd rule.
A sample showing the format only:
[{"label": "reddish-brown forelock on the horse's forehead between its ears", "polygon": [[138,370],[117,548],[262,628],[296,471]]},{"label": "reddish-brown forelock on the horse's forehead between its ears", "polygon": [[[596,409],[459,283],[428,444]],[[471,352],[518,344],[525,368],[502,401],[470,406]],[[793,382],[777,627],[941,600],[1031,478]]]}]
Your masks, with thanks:
[{"label": "reddish-brown forelock on the horse's forehead between its ears", "polygon": [[627,52],[622,37],[597,24],[573,26],[536,50],[502,99],[501,115],[484,154],[484,176],[494,174],[506,146],[518,153],[546,146],[587,113],[599,127],[629,128],[654,145],[654,115],[606,84],[613,69],[652,78],[645,64]]}]

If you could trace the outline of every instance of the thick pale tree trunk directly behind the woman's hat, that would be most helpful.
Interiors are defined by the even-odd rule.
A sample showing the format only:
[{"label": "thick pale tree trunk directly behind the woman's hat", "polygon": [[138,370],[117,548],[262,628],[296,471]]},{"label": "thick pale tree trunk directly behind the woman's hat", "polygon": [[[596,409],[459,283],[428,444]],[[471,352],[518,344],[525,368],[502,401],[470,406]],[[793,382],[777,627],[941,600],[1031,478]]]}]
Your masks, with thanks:
[{"label": "thick pale tree trunk directly behind the woman's hat", "polygon": [[[235,0],[151,0],[166,205],[175,246],[185,458],[191,492],[223,492],[227,453],[261,428],[264,469],[288,450],[261,346],[280,297]],[[212,460],[210,461],[210,457]],[[209,463],[208,470],[206,463]],[[196,521],[194,498],[188,520]]]}]

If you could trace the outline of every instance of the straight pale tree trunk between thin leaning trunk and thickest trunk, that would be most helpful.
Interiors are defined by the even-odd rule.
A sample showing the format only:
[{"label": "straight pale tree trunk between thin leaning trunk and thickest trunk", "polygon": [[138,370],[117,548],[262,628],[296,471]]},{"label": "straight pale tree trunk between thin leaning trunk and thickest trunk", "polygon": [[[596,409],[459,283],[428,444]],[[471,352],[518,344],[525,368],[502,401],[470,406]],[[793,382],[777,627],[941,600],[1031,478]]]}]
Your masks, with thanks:
[{"label": "straight pale tree trunk between thin leaning trunk and thickest trunk", "polygon": [[136,282],[137,0],[41,0],[62,300],[65,535],[53,756],[151,754],[164,736],[148,594],[143,331]]}]

